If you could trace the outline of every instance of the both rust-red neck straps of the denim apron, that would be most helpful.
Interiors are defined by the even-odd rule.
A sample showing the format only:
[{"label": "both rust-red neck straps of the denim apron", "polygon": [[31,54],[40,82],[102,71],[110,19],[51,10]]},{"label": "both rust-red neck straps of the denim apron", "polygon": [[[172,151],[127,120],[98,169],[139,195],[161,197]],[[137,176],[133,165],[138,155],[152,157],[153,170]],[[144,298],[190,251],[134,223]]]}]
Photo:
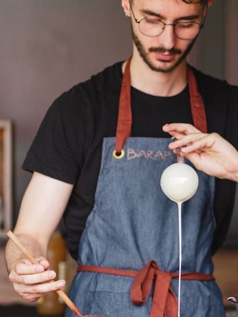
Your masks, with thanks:
[{"label": "both rust-red neck straps of the denim apron", "polygon": [[[115,153],[121,154],[124,144],[131,135],[132,110],[131,110],[131,59],[127,62],[123,74],[118,119],[115,138]],[[191,67],[187,64],[187,81],[189,87],[190,106],[194,126],[207,133],[207,120],[202,96],[197,90],[196,78]]]}]

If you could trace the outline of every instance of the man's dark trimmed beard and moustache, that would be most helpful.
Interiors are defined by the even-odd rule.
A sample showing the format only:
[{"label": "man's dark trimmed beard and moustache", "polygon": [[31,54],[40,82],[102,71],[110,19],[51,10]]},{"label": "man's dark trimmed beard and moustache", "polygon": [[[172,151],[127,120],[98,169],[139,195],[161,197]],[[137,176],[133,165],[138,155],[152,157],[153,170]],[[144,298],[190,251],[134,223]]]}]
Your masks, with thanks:
[{"label": "man's dark trimmed beard and moustache", "polygon": [[[172,72],[179,64],[181,64],[181,62],[186,58],[186,56],[188,55],[188,53],[191,51],[193,44],[196,40],[196,37],[191,41],[191,43],[188,45],[188,47],[186,48],[186,50],[184,52],[182,52],[181,50],[178,50],[176,48],[172,48],[171,50],[166,50],[163,47],[157,47],[157,48],[149,48],[148,52],[157,52],[157,53],[165,53],[168,52],[169,54],[174,54],[174,55],[179,55],[179,58],[177,59],[177,61],[171,65],[171,66],[164,66],[164,67],[156,67],[154,66],[151,61],[149,60],[148,57],[148,53],[146,52],[142,42],[139,40],[139,38],[137,37],[137,35],[135,34],[133,28],[131,27],[131,31],[132,31],[132,38],[133,41],[135,43],[135,46],[141,56],[141,58],[143,59],[143,61],[145,62],[145,64],[153,71],[156,72],[162,72],[162,73],[170,73]],[[166,63],[166,62],[164,62]],[[167,62],[168,63],[168,62]]]}]

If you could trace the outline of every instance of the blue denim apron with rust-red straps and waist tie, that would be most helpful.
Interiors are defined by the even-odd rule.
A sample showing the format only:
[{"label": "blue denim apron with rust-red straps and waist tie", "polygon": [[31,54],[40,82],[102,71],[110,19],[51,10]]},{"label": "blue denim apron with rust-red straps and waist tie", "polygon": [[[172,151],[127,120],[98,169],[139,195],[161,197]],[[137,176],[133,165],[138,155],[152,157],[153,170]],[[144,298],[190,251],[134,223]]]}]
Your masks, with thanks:
[{"label": "blue denim apron with rust-red straps and waist tie", "polygon": [[[194,125],[207,131],[188,66]],[[176,162],[168,138],[131,138],[130,60],[123,77],[116,138],[104,138],[95,205],[83,232],[69,297],[84,314],[177,316],[178,207],[160,188]],[[190,164],[190,162],[186,162]],[[224,317],[211,276],[214,177],[198,171],[199,188],[182,204],[181,317]],[[69,308],[66,317],[74,316]]]}]

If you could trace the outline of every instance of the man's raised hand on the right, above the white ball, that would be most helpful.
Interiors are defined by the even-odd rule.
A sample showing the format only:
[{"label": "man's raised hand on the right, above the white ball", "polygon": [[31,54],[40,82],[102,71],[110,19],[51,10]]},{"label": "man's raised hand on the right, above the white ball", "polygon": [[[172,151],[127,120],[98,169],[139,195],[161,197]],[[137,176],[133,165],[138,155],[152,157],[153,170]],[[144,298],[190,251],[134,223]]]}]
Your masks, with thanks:
[{"label": "man's raised hand on the right, above the white ball", "polygon": [[182,147],[184,157],[197,169],[238,182],[238,152],[218,133],[203,133],[186,123],[166,124],[163,130],[176,139],[169,148]]}]

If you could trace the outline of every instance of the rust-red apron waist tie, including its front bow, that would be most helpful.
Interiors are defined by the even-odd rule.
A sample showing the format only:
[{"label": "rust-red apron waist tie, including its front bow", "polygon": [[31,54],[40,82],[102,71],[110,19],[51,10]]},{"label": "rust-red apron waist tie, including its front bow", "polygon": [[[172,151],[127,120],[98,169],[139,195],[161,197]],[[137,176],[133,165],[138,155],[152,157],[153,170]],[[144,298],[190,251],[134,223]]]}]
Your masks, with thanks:
[{"label": "rust-red apron waist tie, including its front bow", "polygon": [[[170,282],[178,279],[178,273],[162,271],[155,261],[148,262],[140,271],[116,269],[110,267],[78,265],[77,271],[88,271],[104,274],[112,274],[135,278],[131,287],[131,301],[135,305],[146,302],[151,291],[152,282],[155,281],[154,295],[150,317],[164,317],[165,311],[168,317],[177,317],[178,300]],[[184,273],[182,280],[214,281],[212,275],[203,273]]]}]

